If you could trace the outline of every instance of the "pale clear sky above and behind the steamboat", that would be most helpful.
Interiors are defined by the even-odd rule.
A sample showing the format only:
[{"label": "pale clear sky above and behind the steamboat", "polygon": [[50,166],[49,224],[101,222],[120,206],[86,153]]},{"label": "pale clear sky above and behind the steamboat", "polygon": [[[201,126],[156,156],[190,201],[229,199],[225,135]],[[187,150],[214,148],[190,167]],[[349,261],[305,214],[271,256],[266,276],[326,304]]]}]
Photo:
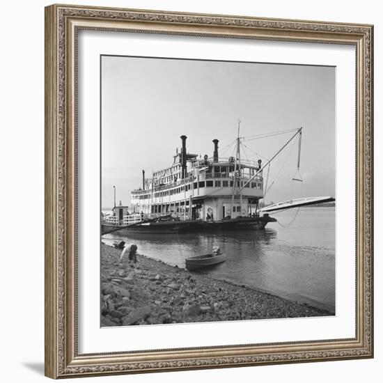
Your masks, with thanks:
[{"label": "pale clear sky above and behind the steamboat", "polygon": [[[335,196],[335,68],[228,61],[102,56],[102,207],[130,205],[130,192],[170,166],[180,136],[187,152],[219,154],[237,137],[303,127],[272,161],[265,202]],[[244,141],[242,158],[269,159],[293,133]],[[246,139],[245,139],[246,140]],[[223,153],[233,155],[233,150]],[[267,172],[264,173],[264,178]]]}]

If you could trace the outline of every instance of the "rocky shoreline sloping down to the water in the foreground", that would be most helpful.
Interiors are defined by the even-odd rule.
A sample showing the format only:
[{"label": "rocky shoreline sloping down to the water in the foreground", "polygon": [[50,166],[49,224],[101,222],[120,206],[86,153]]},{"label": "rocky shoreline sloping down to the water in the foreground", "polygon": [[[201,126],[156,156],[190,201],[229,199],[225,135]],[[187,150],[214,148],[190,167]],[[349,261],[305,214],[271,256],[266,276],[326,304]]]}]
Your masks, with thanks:
[{"label": "rocky shoreline sloping down to the water in the foreground", "polygon": [[120,253],[101,245],[102,327],[334,315],[145,256],[121,265]]}]

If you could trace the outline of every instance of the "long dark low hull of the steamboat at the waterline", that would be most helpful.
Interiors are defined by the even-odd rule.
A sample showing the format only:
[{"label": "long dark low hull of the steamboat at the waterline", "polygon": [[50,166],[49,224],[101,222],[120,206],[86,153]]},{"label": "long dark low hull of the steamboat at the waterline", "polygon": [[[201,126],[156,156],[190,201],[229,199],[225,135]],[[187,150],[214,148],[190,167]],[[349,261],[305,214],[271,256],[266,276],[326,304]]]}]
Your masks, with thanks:
[{"label": "long dark low hull of the steamboat at the waterline", "polygon": [[190,231],[219,231],[219,230],[263,230],[267,223],[276,222],[275,218],[264,217],[242,217],[238,219],[227,219],[224,221],[159,221],[143,223],[135,226],[118,226],[102,224],[102,234],[112,233],[119,230],[128,230],[130,233],[169,234]]}]

